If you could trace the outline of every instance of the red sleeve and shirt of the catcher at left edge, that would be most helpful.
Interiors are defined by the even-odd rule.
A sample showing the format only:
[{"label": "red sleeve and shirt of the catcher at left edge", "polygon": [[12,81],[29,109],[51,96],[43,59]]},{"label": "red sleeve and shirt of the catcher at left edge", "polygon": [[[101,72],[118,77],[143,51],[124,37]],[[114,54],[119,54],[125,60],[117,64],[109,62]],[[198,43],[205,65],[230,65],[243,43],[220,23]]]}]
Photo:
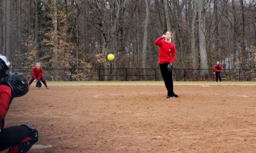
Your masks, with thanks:
[{"label": "red sleeve and shirt of the catcher at left edge", "polygon": [[2,129],[2,120],[7,114],[11,102],[11,88],[4,84],[0,84],[0,129]]}]

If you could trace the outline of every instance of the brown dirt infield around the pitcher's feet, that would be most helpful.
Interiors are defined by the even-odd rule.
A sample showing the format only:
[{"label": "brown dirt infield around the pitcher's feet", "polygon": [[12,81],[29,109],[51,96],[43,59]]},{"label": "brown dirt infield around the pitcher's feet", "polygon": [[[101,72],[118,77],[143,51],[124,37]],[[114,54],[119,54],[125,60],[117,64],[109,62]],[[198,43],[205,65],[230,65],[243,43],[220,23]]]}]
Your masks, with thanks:
[{"label": "brown dirt infield around the pitcher's feet", "polygon": [[30,152],[254,152],[256,86],[30,87],[6,126],[32,123]]}]

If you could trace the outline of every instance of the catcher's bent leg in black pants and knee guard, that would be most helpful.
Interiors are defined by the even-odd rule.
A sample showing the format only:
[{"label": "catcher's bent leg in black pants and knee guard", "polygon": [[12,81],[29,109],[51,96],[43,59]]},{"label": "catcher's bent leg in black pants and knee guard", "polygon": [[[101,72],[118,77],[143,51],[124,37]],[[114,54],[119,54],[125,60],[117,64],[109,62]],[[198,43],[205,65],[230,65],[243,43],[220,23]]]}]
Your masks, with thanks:
[{"label": "catcher's bent leg in black pants and knee guard", "polygon": [[[24,139],[29,140],[23,142]],[[14,146],[21,146],[20,149],[26,151],[29,150],[37,140],[37,130],[30,130],[27,126],[11,126],[4,128],[0,132],[0,151]]]}]

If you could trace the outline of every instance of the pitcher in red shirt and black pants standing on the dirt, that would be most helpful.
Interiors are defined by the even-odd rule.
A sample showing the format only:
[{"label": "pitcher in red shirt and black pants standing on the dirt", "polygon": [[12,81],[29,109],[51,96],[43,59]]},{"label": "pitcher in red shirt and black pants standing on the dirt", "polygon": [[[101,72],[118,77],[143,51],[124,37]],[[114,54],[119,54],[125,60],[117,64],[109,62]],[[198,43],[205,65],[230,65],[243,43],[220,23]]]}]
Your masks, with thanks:
[{"label": "pitcher in red shirt and black pants standing on the dirt", "polygon": [[173,91],[172,80],[172,65],[175,60],[176,50],[175,45],[171,43],[171,32],[168,31],[163,36],[160,36],[155,40],[154,44],[159,46],[158,63],[168,91],[167,98],[177,98],[178,95]]}]

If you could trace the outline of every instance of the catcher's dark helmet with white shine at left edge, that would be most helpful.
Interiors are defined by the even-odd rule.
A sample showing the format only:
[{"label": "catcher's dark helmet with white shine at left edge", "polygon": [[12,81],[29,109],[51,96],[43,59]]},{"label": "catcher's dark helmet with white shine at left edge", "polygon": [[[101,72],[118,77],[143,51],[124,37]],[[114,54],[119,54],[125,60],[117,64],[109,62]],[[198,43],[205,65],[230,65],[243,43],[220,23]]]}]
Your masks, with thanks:
[{"label": "catcher's dark helmet with white shine at left edge", "polygon": [[8,82],[11,64],[4,55],[0,54],[0,83]]}]

